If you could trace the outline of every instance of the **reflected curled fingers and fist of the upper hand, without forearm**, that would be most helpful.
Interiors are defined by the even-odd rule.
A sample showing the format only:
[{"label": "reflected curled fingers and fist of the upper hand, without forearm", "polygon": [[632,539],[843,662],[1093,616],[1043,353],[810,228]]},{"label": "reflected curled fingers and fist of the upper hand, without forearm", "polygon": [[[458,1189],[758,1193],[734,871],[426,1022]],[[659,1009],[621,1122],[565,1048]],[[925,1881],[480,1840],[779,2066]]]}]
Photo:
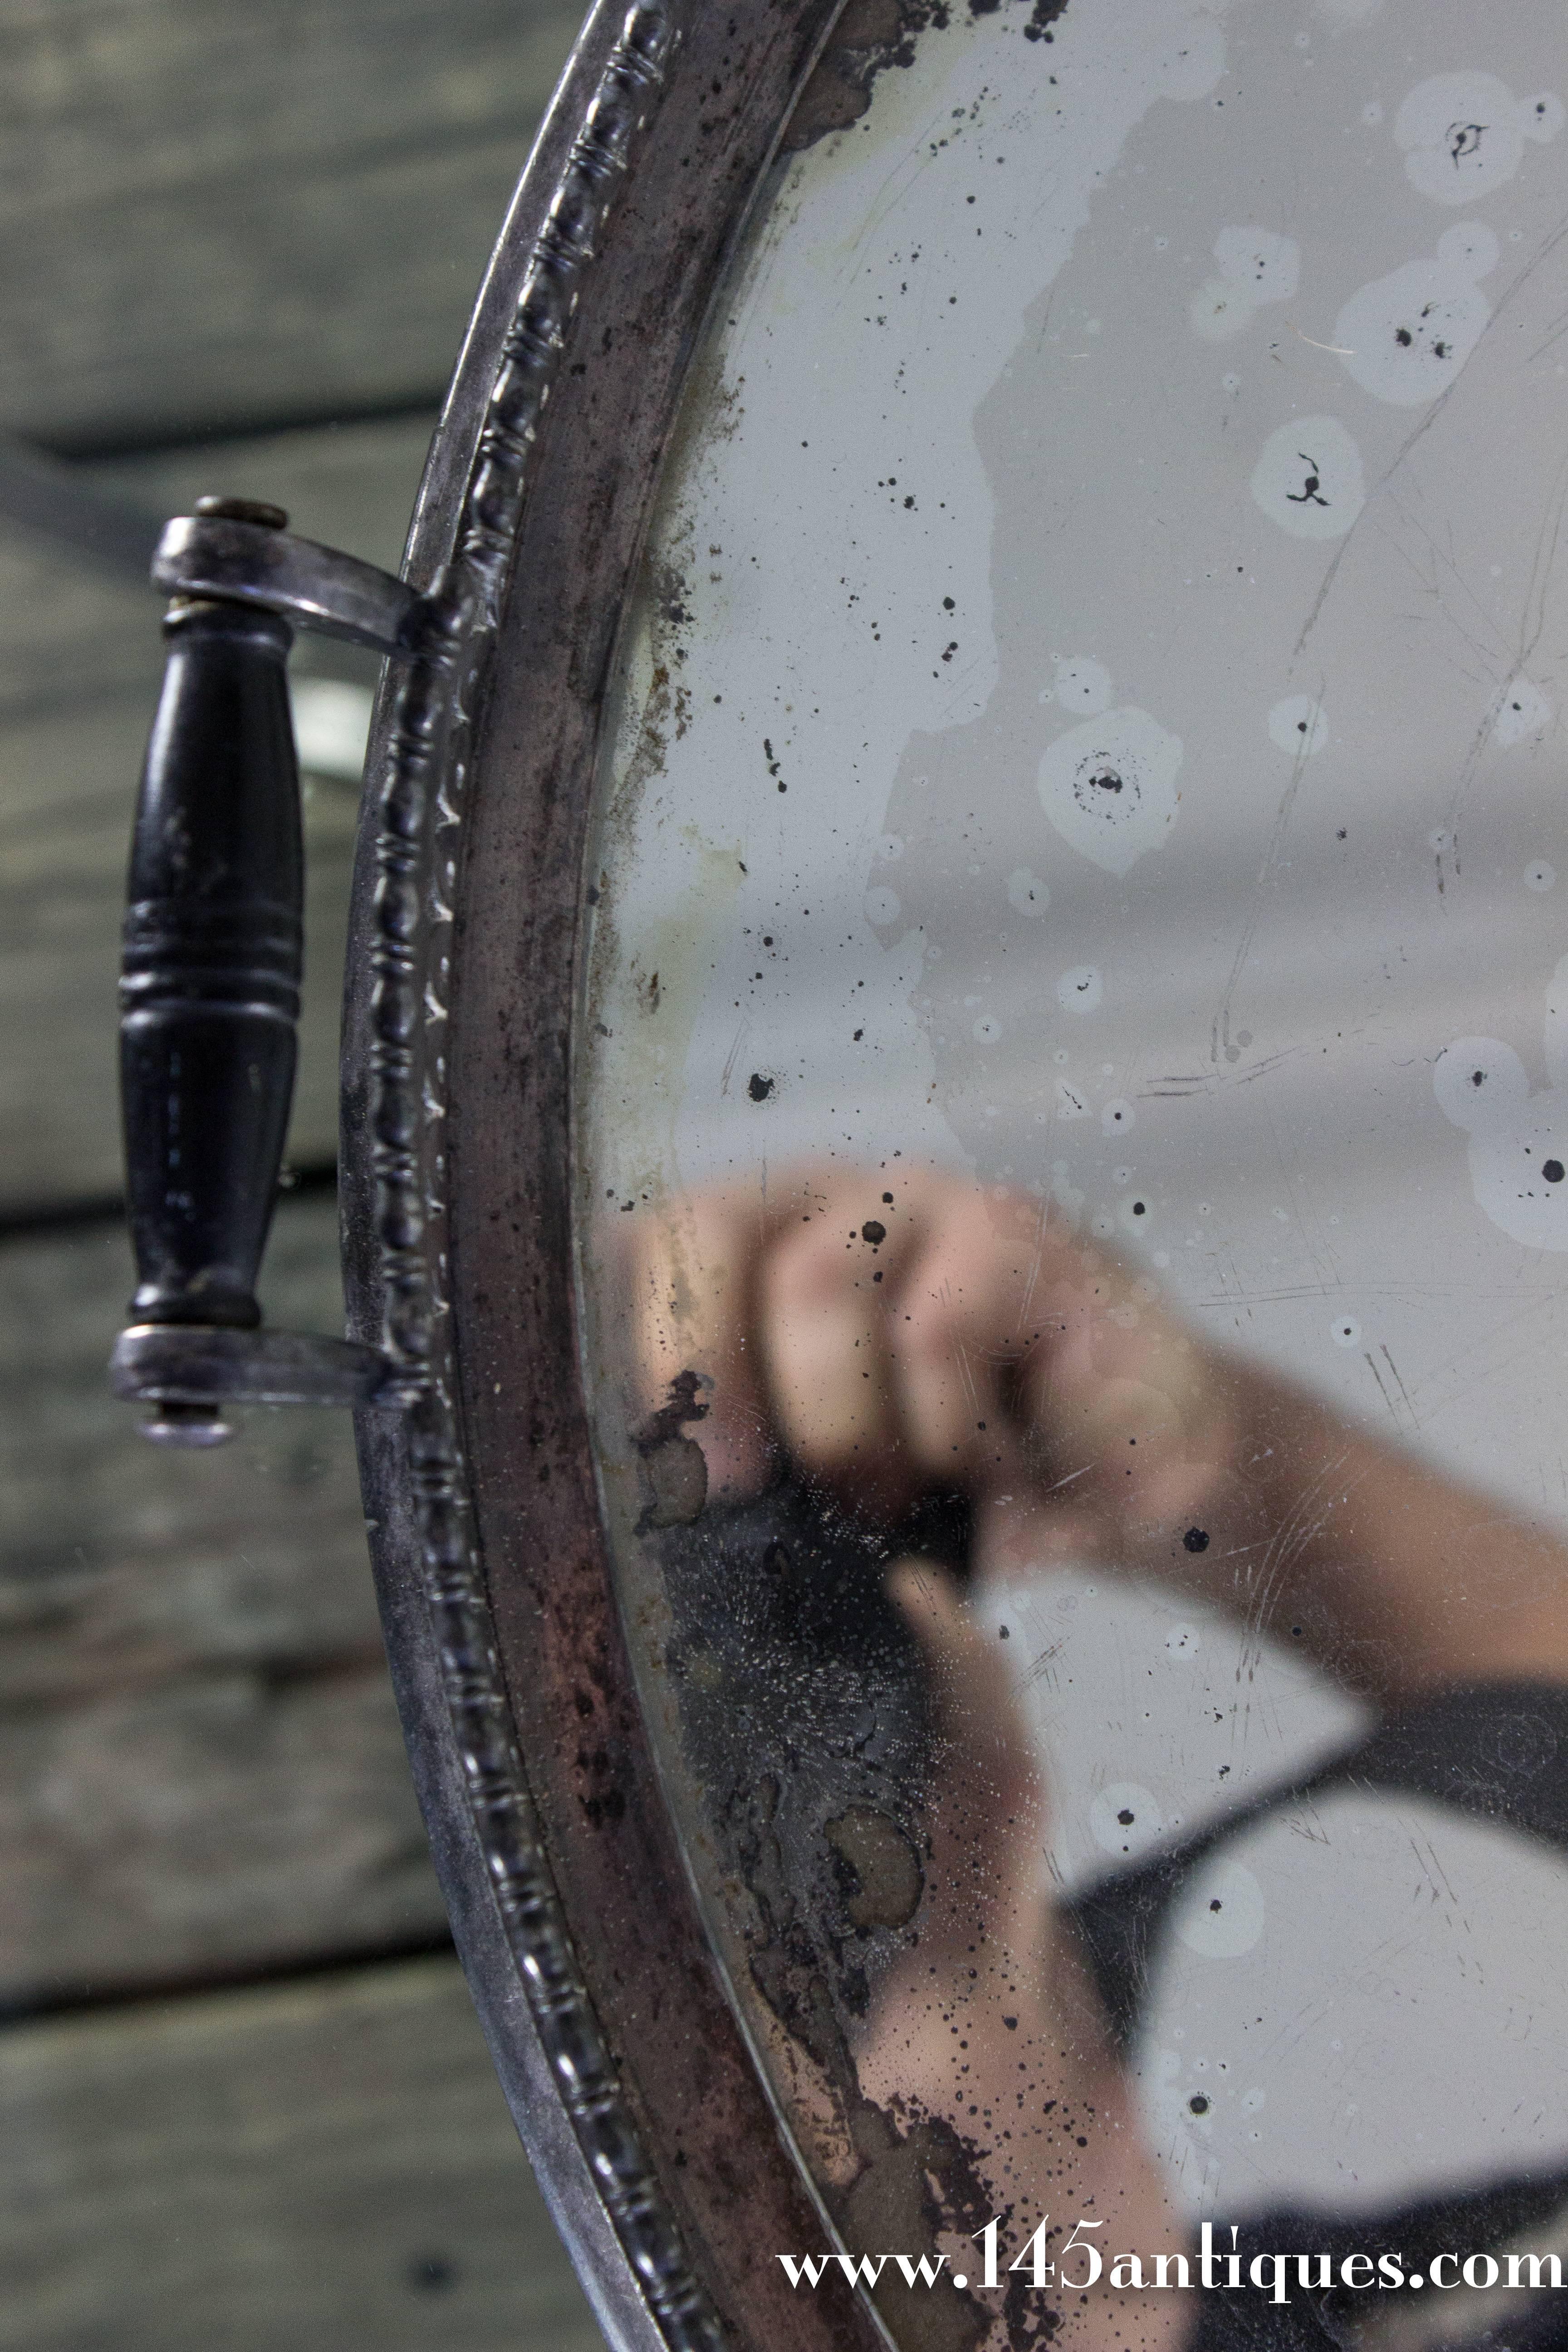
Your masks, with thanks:
[{"label": "reflected curled fingers and fist of the upper hand, without forearm", "polygon": [[[1058,1555],[1171,1541],[1225,1475],[1225,1383],[1152,1282],[1044,1207],[940,1176],[797,1174],[679,1202],[644,1237],[639,1374],[712,1381],[719,1491],[778,1446],[889,1512],[926,1486],[1034,1491]],[[1037,1552],[1039,1557],[1039,1552]]]}]

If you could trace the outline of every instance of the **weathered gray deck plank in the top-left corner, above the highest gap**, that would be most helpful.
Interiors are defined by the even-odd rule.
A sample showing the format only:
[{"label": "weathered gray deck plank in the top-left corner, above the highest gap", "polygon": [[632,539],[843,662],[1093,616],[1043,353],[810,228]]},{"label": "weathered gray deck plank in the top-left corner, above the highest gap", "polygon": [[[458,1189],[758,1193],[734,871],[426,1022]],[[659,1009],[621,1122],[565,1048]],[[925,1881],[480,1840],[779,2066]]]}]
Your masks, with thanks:
[{"label": "weathered gray deck plank in the top-left corner, above the highest gap", "polygon": [[440,395],[574,0],[0,21],[0,426],[186,440]]}]

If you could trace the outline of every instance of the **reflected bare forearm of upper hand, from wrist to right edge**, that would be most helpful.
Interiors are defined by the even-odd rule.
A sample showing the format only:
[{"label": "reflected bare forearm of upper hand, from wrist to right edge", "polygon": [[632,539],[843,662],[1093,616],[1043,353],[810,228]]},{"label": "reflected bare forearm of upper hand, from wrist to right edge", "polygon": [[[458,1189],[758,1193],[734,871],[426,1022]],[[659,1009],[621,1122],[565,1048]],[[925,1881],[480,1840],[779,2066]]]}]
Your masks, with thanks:
[{"label": "reflected bare forearm of upper hand, from wrist to right edge", "polygon": [[1159,1552],[1194,1592],[1378,1696],[1568,1677],[1556,1538],[1251,1364],[1225,1367],[1225,1388],[1234,1435],[1206,1489],[1194,1482],[1208,1541],[1145,1526],[1147,1566]]}]

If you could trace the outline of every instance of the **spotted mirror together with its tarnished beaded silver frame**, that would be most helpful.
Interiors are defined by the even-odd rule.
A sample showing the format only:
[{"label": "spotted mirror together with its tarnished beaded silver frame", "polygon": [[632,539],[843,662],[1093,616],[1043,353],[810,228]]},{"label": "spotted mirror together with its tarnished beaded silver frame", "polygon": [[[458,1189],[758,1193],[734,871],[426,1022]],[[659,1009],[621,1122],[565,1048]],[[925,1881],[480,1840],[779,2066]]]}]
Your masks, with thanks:
[{"label": "spotted mirror together with its tarnished beaded silver frame", "polygon": [[1566,92],[583,31],[364,588],[331,1378],[616,2345],[1568,2340]]}]

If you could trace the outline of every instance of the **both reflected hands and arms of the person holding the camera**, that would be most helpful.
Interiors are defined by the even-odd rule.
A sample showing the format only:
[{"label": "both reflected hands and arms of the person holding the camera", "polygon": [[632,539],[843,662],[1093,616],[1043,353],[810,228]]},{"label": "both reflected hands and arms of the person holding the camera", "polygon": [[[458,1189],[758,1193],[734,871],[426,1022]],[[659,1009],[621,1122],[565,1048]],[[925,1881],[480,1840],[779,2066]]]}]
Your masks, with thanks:
[{"label": "both reflected hands and arms of the person holding the camera", "polygon": [[[757,1494],[783,1461],[886,1517],[961,1486],[992,1573],[1178,1576],[1385,1693],[1568,1679],[1554,1538],[1204,1345],[1152,1282],[1020,1195],[889,1169],[691,1195],[642,1225],[630,1310],[642,1406],[682,1374],[701,1383],[689,1428],[719,1496]],[[1185,2232],[1044,1882],[1046,1797],[1004,1661],[940,1569],[903,1562],[891,1592],[931,1668],[943,1766],[922,1907],[856,2044],[860,2089],[957,2133],[1009,2230],[1100,2223],[1091,2241],[1152,2277]],[[1074,2352],[1166,2347],[1182,2326],[1180,2296],[1110,2279],[1044,2300]],[[1025,2314],[1044,2317],[1032,2291],[999,2312],[997,2352]]]}]

